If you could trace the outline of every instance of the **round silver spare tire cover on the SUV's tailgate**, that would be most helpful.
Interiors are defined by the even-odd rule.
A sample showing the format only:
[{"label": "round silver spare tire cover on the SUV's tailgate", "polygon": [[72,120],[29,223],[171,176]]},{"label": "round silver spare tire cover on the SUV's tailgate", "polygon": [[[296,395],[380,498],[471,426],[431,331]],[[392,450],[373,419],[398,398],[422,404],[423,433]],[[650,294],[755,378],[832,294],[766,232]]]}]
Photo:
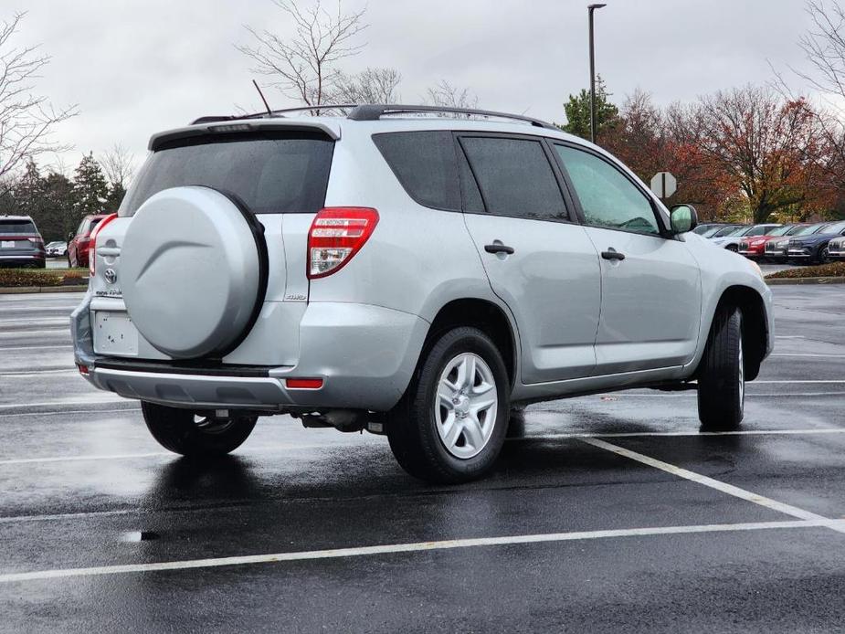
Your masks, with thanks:
[{"label": "round silver spare tire cover on the SUV's tailgate", "polygon": [[234,343],[259,301],[255,235],[238,206],[209,187],[147,199],[123,238],[120,274],[138,331],[177,359]]}]

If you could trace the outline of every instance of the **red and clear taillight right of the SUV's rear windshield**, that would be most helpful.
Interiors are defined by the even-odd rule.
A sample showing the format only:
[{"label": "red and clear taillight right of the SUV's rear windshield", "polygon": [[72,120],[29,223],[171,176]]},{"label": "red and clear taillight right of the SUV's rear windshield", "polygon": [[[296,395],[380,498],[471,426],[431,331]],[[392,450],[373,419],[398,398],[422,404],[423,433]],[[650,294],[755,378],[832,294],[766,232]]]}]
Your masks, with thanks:
[{"label": "red and clear taillight right of the SUV's rear windshield", "polygon": [[369,207],[326,207],[308,230],[308,279],[343,269],[373,235],[378,212]]}]

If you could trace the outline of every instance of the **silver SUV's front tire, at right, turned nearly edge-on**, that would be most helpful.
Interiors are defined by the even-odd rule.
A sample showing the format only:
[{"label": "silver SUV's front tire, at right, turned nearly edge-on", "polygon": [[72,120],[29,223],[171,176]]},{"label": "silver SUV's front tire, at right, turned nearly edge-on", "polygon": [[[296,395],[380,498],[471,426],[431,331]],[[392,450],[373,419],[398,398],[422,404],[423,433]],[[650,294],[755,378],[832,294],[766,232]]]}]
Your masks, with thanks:
[{"label": "silver SUV's front tire, at right, turned nearly edge-on", "polygon": [[713,317],[698,375],[698,417],[702,431],[739,427],[745,409],[742,312],[720,307]]}]

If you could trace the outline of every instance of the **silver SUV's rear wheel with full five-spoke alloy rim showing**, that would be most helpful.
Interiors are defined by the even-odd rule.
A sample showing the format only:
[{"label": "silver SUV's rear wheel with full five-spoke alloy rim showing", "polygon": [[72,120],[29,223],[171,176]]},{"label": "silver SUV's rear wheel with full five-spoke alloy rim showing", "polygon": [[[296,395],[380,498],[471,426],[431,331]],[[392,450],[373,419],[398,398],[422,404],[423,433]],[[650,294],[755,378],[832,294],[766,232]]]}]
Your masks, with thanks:
[{"label": "silver SUV's rear wheel with full five-spoke alloy rim showing", "polygon": [[[484,386],[489,387],[481,391]],[[452,397],[441,399],[441,391]],[[492,405],[481,407],[491,400]],[[387,415],[387,439],[410,475],[456,484],[491,469],[509,415],[510,383],[502,354],[486,334],[462,326],[424,349],[405,395]]]}]

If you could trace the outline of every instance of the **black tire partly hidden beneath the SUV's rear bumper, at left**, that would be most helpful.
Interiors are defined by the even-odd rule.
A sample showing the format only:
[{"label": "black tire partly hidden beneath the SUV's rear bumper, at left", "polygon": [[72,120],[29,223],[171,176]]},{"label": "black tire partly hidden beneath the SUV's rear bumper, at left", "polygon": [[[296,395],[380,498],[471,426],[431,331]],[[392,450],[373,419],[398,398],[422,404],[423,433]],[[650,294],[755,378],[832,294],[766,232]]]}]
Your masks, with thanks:
[{"label": "black tire partly hidden beneath the SUV's rear bumper, at left", "polygon": [[142,401],[143,420],[153,438],[164,449],[183,456],[222,456],[238,449],[248,439],[258,417],[231,417],[226,421],[204,418],[195,422],[190,409],[155,405]]}]

